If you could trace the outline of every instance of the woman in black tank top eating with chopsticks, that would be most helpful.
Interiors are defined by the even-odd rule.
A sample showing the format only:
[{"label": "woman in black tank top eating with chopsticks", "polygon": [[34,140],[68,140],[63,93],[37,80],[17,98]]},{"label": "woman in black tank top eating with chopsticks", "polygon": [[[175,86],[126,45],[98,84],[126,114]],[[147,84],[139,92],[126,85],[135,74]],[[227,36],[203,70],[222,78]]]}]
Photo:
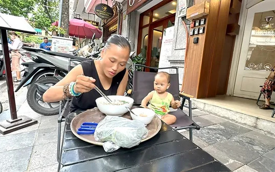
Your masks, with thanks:
[{"label": "woman in black tank top eating with chopsticks", "polygon": [[100,55],[102,60],[88,60],[74,67],[61,81],[43,95],[45,102],[57,102],[73,97],[70,111],[96,107],[95,100],[101,97],[95,85],[105,95],[124,95],[128,81],[125,69],[129,59],[130,44],[120,35],[112,35]]}]

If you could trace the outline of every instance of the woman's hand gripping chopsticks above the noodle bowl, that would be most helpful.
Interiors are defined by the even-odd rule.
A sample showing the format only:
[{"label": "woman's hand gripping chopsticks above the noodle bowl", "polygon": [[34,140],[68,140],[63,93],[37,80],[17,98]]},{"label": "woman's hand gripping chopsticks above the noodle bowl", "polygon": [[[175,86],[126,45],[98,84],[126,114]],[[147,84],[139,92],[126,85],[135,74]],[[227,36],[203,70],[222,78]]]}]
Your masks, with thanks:
[{"label": "woman's hand gripping chopsticks above the noodle bowl", "polygon": [[87,93],[95,88],[95,79],[92,77],[78,75],[73,87],[73,91],[77,93]]}]

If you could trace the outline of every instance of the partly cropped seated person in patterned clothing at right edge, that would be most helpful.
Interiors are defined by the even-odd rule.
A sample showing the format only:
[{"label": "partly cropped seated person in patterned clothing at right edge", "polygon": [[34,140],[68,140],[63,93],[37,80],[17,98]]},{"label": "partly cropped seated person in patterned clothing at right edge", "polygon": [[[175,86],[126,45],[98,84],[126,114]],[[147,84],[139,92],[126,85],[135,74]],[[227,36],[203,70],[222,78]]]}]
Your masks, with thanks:
[{"label": "partly cropped seated person in patterned clothing at right edge", "polygon": [[264,93],[265,104],[260,106],[261,109],[271,109],[270,108],[270,99],[272,91],[275,90],[275,82],[270,79],[275,79],[275,67],[271,70],[269,76],[267,77],[261,92]]}]

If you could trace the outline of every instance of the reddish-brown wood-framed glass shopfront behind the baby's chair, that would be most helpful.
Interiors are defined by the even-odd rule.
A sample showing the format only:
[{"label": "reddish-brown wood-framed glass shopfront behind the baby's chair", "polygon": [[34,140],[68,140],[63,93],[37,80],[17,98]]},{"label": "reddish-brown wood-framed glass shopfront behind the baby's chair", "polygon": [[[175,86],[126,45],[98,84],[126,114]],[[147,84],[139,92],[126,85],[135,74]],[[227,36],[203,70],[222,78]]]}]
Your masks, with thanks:
[{"label": "reddish-brown wood-framed glass shopfront behind the baby's chair", "polygon": [[158,67],[162,35],[175,24],[177,1],[168,0],[140,14],[137,54],[146,57],[146,66]]}]

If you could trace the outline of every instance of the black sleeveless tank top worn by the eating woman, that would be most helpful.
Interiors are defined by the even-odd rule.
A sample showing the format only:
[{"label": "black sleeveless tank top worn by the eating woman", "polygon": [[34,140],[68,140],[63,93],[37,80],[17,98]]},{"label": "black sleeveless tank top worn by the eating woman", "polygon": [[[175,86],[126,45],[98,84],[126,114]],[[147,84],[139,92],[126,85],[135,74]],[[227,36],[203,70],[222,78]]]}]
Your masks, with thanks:
[{"label": "black sleeveless tank top worn by the eating woman", "polygon": [[[83,72],[85,76],[93,77],[96,81],[94,82],[97,87],[104,92],[105,95],[116,95],[119,84],[123,79],[126,69],[119,72],[116,76],[113,77],[111,87],[108,90],[105,90],[99,80],[98,73],[96,71],[95,62],[93,60],[88,60],[81,62]],[[70,103],[70,112],[75,110],[87,110],[96,107],[95,100],[101,97],[96,90],[91,90],[90,92],[83,93],[78,97],[73,97]]]}]

